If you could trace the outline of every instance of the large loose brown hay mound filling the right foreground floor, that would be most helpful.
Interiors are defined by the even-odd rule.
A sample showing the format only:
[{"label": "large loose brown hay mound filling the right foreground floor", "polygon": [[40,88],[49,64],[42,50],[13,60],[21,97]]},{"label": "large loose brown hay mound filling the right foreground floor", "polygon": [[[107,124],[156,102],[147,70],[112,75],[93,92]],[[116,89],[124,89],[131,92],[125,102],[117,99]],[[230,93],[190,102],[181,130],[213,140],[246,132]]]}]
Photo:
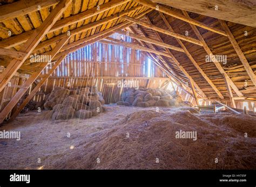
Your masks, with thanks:
[{"label": "large loose brown hay mound filling the right foreground floor", "polygon": [[[77,166],[75,158],[69,164],[89,169],[256,168],[256,118],[232,114],[199,116],[187,110],[133,112],[119,120],[117,127],[87,136],[77,148],[77,152],[86,153],[83,166]],[[211,117],[218,120],[211,123]],[[197,131],[197,140],[177,139],[175,133],[180,130]]]}]

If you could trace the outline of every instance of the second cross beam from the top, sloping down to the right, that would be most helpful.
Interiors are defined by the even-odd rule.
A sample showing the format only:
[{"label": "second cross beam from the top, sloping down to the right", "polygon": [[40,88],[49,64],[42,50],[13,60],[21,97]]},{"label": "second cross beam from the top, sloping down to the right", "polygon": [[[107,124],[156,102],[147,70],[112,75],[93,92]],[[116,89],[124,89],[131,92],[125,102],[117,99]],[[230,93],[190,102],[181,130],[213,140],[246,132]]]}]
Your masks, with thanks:
[{"label": "second cross beam from the top, sloping down to the right", "polygon": [[134,19],[134,18],[130,18],[128,16],[123,16],[123,18],[125,18],[128,21],[132,21],[133,23],[136,23],[138,25],[142,25],[144,27],[150,28],[150,29],[152,29],[154,31],[170,35],[171,37],[179,38],[181,40],[185,40],[185,41],[191,42],[193,44],[196,44],[196,45],[199,45],[199,46],[203,46],[199,40],[196,40],[196,39],[193,39],[193,38],[190,38],[190,37],[186,37],[185,35],[174,33],[174,32],[170,32],[170,31],[166,31],[165,29],[157,27],[157,26],[154,26],[153,24],[148,24],[148,23],[145,23],[144,21],[140,21],[140,20],[137,20],[137,19]]}]

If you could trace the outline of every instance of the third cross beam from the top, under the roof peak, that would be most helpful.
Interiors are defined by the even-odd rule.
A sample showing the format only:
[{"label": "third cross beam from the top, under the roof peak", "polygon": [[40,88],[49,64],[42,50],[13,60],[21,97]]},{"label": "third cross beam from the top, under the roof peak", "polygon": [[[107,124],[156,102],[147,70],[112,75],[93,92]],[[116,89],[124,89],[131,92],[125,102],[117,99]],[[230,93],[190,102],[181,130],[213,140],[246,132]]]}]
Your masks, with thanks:
[{"label": "third cross beam from the top, under the roof peak", "polygon": [[166,47],[166,48],[169,48],[169,49],[173,49],[174,51],[184,52],[184,50],[181,49],[180,47],[175,47],[175,46],[172,46],[172,45],[169,45],[169,44],[165,44],[164,42],[153,40],[153,39],[150,39],[150,38],[147,38],[147,37],[142,37],[138,34],[133,34],[133,33],[125,32],[125,31],[122,31],[122,30],[117,30],[116,33],[123,34],[123,35],[129,35],[129,37],[131,37],[131,38],[134,38],[134,39],[137,39],[137,40],[140,40],[140,41],[149,42],[150,44],[155,44],[155,45],[158,45],[160,47]]}]

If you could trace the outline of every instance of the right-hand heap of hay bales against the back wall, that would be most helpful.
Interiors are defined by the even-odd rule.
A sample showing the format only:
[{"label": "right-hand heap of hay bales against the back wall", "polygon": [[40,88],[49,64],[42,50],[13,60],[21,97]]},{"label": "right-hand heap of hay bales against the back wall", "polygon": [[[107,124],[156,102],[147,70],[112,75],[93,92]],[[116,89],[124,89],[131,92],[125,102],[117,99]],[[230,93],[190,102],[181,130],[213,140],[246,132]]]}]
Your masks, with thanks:
[{"label": "right-hand heap of hay bales against the back wall", "polygon": [[122,93],[122,101],[117,102],[117,105],[125,106],[182,106],[186,105],[176,91],[129,88]]}]

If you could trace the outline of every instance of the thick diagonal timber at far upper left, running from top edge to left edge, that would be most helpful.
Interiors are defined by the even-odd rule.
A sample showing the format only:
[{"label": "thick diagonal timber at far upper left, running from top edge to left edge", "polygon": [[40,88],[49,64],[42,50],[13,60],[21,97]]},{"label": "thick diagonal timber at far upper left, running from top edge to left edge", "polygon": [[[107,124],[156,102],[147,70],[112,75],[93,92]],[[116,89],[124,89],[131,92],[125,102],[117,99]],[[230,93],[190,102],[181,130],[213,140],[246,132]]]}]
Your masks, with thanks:
[{"label": "thick diagonal timber at far upper left, running from top edge to left edge", "polygon": [[58,3],[55,9],[52,10],[50,15],[44,20],[44,22],[33,32],[30,39],[26,41],[23,47],[20,49],[21,52],[26,53],[23,60],[12,60],[8,67],[0,75],[0,91],[3,90],[5,85],[11,80],[11,77],[17,72],[19,67],[22,66],[23,62],[30,55],[33,49],[43,39],[45,34],[50,30],[53,24],[62,16],[62,13],[70,5],[71,0],[63,0]]}]

